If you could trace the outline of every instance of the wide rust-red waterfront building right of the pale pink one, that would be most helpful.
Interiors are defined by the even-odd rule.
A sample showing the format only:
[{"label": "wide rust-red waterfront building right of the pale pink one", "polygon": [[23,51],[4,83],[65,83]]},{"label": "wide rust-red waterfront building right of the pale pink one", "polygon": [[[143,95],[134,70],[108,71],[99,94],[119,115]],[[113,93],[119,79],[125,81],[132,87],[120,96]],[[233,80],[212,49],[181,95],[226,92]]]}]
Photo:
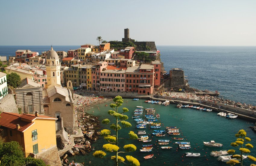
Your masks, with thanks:
[{"label": "wide rust-red waterfront building right of the pale pink one", "polygon": [[126,92],[137,92],[138,94],[153,94],[154,66],[142,64],[126,69],[125,85]]}]

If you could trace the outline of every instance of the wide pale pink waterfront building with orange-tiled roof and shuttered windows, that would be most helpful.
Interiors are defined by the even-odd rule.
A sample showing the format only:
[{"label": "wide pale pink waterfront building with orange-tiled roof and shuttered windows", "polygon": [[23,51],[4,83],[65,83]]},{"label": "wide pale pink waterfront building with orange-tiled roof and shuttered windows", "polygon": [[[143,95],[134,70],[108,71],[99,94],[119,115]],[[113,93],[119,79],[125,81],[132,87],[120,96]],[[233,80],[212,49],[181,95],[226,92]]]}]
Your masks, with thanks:
[{"label": "wide pale pink waterfront building with orange-tiled roof and shuttered windows", "polygon": [[100,73],[100,91],[125,91],[125,69],[108,66]]}]

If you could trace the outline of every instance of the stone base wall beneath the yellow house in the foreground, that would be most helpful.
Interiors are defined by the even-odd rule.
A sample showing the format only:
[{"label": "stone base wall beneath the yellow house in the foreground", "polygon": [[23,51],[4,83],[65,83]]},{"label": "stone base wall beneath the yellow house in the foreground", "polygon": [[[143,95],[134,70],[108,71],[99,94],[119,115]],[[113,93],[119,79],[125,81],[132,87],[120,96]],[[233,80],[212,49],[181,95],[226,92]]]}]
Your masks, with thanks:
[{"label": "stone base wall beneath the yellow house in the foreground", "polygon": [[42,159],[47,165],[51,166],[61,166],[60,156],[58,155],[57,146],[53,146],[45,150],[44,152],[40,152],[35,154],[36,158]]}]

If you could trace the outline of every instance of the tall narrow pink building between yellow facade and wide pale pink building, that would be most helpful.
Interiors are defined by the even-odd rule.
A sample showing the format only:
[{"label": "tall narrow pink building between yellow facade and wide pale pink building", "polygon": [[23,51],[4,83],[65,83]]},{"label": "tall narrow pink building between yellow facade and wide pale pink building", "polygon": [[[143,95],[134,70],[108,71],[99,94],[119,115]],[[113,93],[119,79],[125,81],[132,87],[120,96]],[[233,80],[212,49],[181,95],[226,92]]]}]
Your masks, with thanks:
[{"label": "tall narrow pink building between yellow facade and wide pale pink building", "polygon": [[100,61],[92,67],[92,90],[100,91],[100,73],[107,66],[107,62]]}]

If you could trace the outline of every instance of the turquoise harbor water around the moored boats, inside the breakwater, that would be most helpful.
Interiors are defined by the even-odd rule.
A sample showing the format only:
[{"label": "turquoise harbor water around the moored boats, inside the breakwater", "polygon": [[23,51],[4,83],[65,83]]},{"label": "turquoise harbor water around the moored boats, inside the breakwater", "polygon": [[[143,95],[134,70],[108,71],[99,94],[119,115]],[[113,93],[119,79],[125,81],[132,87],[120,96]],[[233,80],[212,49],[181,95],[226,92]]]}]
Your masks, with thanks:
[{"label": "turquoise harbor water around the moored boats, inside the breakwater", "polygon": [[[141,105],[141,101],[133,101],[132,99],[124,99],[124,101],[125,102],[123,103],[123,107],[127,107],[129,109],[129,112],[126,115],[129,116],[128,121],[131,122],[132,127],[123,128],[122,130],[120,130],[119,137],[127,137],[127,133],[129,131],[135,131],[135,133],[137,133],[138,131],[138,129],[135,128],[135,125],[137,124],[131,118],[131,116],[133,115],[133,111],[136,106]],[[110,109],[110,103],[111,102],[99,104],[98,106],[100,107],[100,111],[95,106],[93,109],[89,110],[88,113],[99,116],[100,121],[105,118],[111,118],[111,116],[107,114],[107,111]],[[105,104],[108,104],[108,106],[104,106]],[[154,164],[156,166],[160,166],[163,165],[164,162],[166,163],[166,165],[226,165],[226,163],[217,161],[217,158],[211,157],[210,152],[213,150],[233,149],[232,146],[230,146],[230,143],[235,141],[236,138],[234,135],[237,133],[237,131],[239,131],[239,129],[244,129],[247,132],[247,136],[250,137],[252,140],[251,144],[256,147],[256,134],[249,128],[249,126],[253,125],[253,123],[251,122],[247,122],[239,118],[229,119],[220,117],[217,115],[217,112],[203,112],[197,109],[176,108],[175,104],[163,106],[158,104],[144,103],[144,100],[142,100],[142,106],[144,106],[144,108],[155,108],[156,113],[160,114],[159,122],[163,123],[164,126],[177,126],[183,134],[183,136],[180,135],[179,137],[185,137],[187,141],[190,142],[191,149],[178,149],[178,151],[176,151],[178,145],[173,145],[175,140],[172,140],[171,136],[151,137],[151,132],[153,131],[153,129],[152,131],[151,129],[146,129],[147,135],[150,136],[150,138],[152,139],[150,143],[141,143],[137,140],[120,140],[119,142],[119,146],[121,147],[121,149],[122,146],[129,143],[137,146],[137,150],[135,152],[127,153],[127,155],[132,155],[136,157],[140,161],[141,165]],[[92,111],[94,111],[94,113]],[[143,117],[143,115],[141,115],[141,117]],[[102,125],[102,129],[106,128],[108,128],[107,125]],[[161,127],[161,130],[162,129],[164,129],[164,127]],[[169,145],[166,146],[172,146],[173,148],[160,149],[161,145],[158,145],[156,143],[157,139],[169,139],[170,141],[172,141],[172,143],[169,143]],[[208,142],[210,140],[215,140],[215,142],[217,143],[222,143],[223,147],[213,148],[203,145],[203,141]],[[95,150],[103,150],[103,144],[106,144],[106,141],[103,139],[103,137],[100,137],[97,140],[97,143],[94,143],[93,146],[95,147]],[[142,144],[153,144],[153,152],[139,152]],[[185,152],[199,152],[201,156],[198,158],[189,158],[185,157]],[[86,165],[89,163],[89,161],[91,161],[91,165],[113,165],[113,162],[110,160],[94,158],[92,153],[93,152],[85,156],[74,156],[70,159],[73,159],[77,162],[85,162]],[[144,156],[152,153],[156,158],[153,157],[148,160],[145,160],[143,158]],[[121,155],[124,156],[123,154]],[[256,148],[251,149],[251,155],[256,155]],[[110,153],[108,156],[110,156]],[[245,165],[249,165],[251,163],[249,160],[244,161]]]}]

